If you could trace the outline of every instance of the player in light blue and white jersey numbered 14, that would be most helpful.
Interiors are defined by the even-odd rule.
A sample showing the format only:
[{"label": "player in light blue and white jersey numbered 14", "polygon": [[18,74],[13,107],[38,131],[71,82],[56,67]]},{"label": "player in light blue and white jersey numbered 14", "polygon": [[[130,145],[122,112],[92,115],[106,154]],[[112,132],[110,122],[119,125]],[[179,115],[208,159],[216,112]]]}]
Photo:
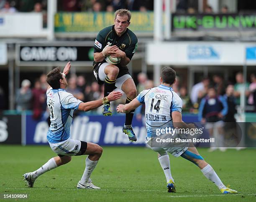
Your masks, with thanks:
[{"label": "player in light blue and white jersey numbered 14", "polygon": [[162,131],[165,131],[165,129],[169,127],[174,129],[195,129],[194,124],[186,124],[182,121],[182,100],[172,89],[172,85],[176,81],[176,72],[171,67],[164,67],[161,70],[160,81],[161,85],[143,90],[137,98],[130,103],[126,105],[118,105],[117,111],[118,113],[128,113],[129,111],[136,109],[142,103],[145,103],[147,128],[146,143],[152,150],[158,152],[159,163],[166,176],[168,192],[176,192],[176,189],[171,174],[169,155],[167,152],[171,153],[173,156],[182,156],[184,159],[192,161],[201,169],[204,176],[220,189],[220,192],[224,194],[238,193],[236,190],[229,189],[221,182],[218,175],[212,169],[212,166],[205,162],[191,143],[181,147],[177,147],[177,145],[173,143],[169,143],[166,147],[160,145],[158,147],[156,142],[153,142],[156,137],[159,137],[159,139],[166,137],[166,133],[157,134],[161,129],[164,129]]}]

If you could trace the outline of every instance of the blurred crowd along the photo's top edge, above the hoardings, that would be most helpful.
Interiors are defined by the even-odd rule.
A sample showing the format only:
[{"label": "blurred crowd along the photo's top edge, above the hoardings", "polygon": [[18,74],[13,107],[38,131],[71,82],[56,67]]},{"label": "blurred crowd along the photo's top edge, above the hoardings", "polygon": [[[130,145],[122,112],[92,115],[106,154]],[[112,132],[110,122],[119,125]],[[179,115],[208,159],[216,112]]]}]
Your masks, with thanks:
[{"label": "blurred crowd along the photo's top edge, above the hoardings", "polygon": [[[176,13],[216,13],[212,6],[206,4],[200,11],[198,1],[177,0]],[[238,1],[238,10],[253,9],[255,3],[244,3]],[[127,8],[131,11],[152,11],[154,0],[58,0],[58,11],[63,12],[114,12],[120,8]],[[163,9],[165,5],[163,4]],[[0,0],[0,12],[45,12],[47,10],[47,0]],[[223,4],[220,12],[230,13],[232,10],[228,5]]]}]

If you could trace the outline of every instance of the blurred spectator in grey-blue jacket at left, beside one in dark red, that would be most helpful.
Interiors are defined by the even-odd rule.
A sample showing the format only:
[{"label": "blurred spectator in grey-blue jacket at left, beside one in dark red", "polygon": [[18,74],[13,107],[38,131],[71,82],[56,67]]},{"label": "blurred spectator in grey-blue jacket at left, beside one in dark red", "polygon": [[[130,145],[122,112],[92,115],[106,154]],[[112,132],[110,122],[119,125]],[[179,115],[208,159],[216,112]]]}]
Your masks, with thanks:
[{"label": "blurred spectator in grey-blue jacket at left, beside one in dark red", "polygon": [[16,108],[18,111],[31,109],[32,92],[30,86],[31,82],[28,79],[21,82],[21,88],[16,95]]}]

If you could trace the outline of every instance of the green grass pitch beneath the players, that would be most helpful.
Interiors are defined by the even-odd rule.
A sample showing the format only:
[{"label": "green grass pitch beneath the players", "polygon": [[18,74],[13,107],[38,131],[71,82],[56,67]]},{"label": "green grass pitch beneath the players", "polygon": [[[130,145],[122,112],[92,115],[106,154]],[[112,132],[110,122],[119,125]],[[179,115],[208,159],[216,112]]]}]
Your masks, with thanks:
[{"label": "green grass pitch beneath the players", "polygon": [[[49,146],[0,146],[0,200],[3,194],[27,194],[28,201],[256,201],[256,149],[228,150],[201,156],[215,169],[225,185],[239,194],[221,194],[200,169],[182,157],[170,155],[177,193],[167,193],[164,172],[157,154],[148,148],[104,147],[92,173],[100,190],[77,189],[86,156],[74,156],[64,166],[40,176],[28,188],[22,175],[34,171],[55,154]],[[14,199],[13,199],[14,200]],[[20,200],[20,199],[18,199]]]}]

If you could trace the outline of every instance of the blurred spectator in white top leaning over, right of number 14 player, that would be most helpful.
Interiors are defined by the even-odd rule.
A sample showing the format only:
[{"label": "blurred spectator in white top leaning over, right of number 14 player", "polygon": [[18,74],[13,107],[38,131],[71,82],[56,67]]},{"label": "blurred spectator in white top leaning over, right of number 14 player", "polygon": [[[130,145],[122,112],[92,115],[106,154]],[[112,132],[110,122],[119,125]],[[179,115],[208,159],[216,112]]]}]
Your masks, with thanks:
[{"label": "blurred spectator in white top leaning over, right of number 14 player", "polygon": [[[210,84],[209,78],[203,78],[202,82],[195,84],[190,93],[190,100],[192,104],[198,103],[198,98],[201,98],[207,92],[207,88]],[[200,97],[199,97],[200,94]]]}]

